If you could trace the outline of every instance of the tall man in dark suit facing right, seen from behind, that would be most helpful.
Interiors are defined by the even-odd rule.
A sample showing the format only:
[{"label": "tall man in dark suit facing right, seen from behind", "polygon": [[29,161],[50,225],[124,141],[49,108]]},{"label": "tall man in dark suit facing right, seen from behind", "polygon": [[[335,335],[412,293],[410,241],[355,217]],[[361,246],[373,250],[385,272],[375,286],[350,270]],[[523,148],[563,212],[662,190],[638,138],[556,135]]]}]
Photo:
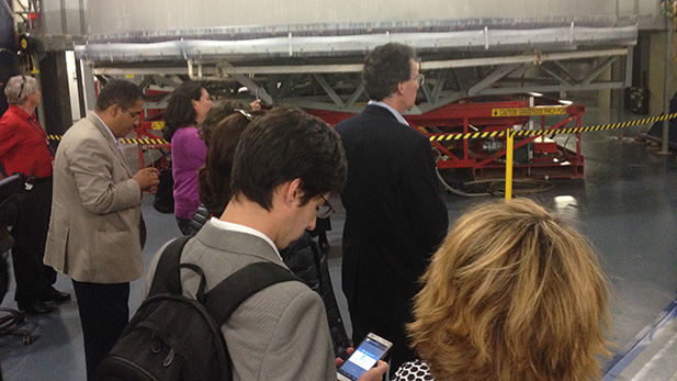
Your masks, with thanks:
[{"label": "tall man in dark suit facing right, seen from behind", "polygon": [[402,112],[415,105],[424,77],[406,45],[377,46],[364,60],[364,111],[336,125],[348,158],[341,192],[343,293],[352,337],[373,332],[393,343],[391,370],[413,359],[405,324],[428,260],[447,233],[430,142]]}]

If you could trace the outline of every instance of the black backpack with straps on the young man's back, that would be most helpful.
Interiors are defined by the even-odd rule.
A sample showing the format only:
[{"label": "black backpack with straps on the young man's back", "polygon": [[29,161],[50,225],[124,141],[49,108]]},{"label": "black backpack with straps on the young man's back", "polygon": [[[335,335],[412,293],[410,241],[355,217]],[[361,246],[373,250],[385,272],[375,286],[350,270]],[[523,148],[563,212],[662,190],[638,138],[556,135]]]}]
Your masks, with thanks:
[{"label": "black backpack with straps on the young man's back", "polygon": [[[162,251],[148,299],[99,366],[99,380],[230,380],[230,356],[221,332],[223,323],[258,291],[298,280],[278,265],[257,262],[204,293],[202,269],[179,262],[189,239],[190,236],[177,238]],[[198,300],[182,295],[181,268],[200,274]]]}]

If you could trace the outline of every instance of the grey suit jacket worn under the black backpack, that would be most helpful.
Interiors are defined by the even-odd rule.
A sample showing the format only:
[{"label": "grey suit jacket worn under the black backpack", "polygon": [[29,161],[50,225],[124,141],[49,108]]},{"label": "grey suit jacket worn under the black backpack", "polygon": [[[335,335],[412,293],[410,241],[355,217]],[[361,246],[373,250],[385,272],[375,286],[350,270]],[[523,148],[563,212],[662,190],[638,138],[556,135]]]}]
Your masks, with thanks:
[{"label": "grey suit jacket worn under the black backpack", "polygon": [[[156,255],[150,265],[144,295],[148,293],[158,258]],[[249,264],[270,261],[286,268],[266,240],[221,229],[211,222],[185,245],[181,261],[196,264],[204,270],[207,291]],[[182,270],[185,295],[195,298],[198,280],[194,272]],[[301,282],[282,282],[256,293],[221,330],[233,359],[234,380],[336,381],[323,301]]]}]

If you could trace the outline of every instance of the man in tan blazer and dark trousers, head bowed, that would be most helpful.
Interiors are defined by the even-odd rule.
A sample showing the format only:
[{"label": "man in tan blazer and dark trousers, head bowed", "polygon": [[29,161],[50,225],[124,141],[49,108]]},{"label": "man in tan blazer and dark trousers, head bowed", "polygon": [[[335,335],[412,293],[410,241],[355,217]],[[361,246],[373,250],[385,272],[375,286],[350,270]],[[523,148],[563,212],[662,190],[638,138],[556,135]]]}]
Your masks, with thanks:
[{"label": "man in tan blazer and dark trousers, head bowed", "polygon": [[66,132],[55,158],[45,265],[72,279],[89,380],[127,324],[129,281],[144,270],[140,200],[158,172],[132,173],[117,146],[143,105],[136,85],[110,81],[94,111]]}]

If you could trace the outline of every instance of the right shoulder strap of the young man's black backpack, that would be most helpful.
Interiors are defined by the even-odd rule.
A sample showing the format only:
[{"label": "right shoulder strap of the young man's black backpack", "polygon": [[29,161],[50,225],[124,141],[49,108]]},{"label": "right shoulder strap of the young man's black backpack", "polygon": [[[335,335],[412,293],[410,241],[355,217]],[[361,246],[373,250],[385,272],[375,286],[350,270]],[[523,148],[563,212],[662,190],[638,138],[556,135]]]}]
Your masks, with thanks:
[{"label": "right shoulder strap of the young man's black backpack", "polygon": [[290,270],[272,262],[256,262],[224,279],[205,295],[205,307],[218,326],[249,296],[269,285],[296,280]]}]

